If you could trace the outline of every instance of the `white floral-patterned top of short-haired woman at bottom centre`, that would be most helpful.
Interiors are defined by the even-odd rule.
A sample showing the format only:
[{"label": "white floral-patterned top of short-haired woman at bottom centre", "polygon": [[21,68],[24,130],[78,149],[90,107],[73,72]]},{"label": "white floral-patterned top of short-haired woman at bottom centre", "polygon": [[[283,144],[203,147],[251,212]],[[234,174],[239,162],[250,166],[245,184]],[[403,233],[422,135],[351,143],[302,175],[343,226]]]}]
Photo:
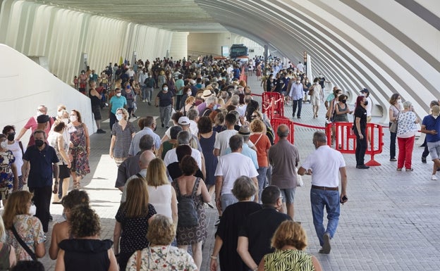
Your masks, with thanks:
[{"label": "white floral-patterned top of short-haired woman at bottom centre", "polygon": [[[127,263],[128,271],[136,270],[138,253],[134,253]],[[152,246],[142,250],[140,270],[197,270],[193,257],[176,246]]]}]

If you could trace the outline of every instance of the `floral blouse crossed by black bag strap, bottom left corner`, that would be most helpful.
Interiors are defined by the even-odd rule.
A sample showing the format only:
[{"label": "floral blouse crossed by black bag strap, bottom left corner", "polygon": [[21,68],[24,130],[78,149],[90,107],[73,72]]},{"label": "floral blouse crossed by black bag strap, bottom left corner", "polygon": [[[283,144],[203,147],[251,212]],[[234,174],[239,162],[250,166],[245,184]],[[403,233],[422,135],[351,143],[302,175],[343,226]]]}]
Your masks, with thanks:
[{"label": "floral blouse crossed by black bag strap, bottom left corner", "polygon": [[[34,253],[35,245],[44,242],[43,226],[38,218],[32,215],[16,215],[13,226],[16,227],[18,235]],[[6,243],[15,248],[17,260],[32,260],[25,248],[18,243],[11,229],[6,231]]]}]

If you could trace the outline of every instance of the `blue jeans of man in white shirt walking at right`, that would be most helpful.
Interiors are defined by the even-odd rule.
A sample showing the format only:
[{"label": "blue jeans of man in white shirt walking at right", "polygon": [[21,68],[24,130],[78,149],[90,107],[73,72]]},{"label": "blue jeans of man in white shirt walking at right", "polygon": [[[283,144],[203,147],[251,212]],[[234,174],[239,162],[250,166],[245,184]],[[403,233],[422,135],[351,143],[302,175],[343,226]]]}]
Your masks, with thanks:
[{"label": "blue jeans of man in white shirt walking at right", "polygon": [[[319,244],[324,245],[322,239],[325,233],[330,234],[330,238],[334,237],[339,221],[339,191],[310,189],[310,203],[312,205],[313,225],[317,233]],[[327,212],[327,229],[324,228],[324,207]]]}]

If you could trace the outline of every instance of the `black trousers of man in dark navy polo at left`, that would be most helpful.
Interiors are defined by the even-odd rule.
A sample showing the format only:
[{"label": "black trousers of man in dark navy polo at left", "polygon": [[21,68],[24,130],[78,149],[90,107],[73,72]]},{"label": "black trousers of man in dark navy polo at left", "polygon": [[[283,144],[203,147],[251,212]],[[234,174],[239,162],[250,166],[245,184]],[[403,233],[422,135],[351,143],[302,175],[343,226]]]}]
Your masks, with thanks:
[{"label": "black trousers of man in dark navy polo at left", "polygon": [[35,216],[42,222],[43,232],[47,232],[49,230],[52,187],[29,187],[29,191],[34,194],[33,201],[37,207]]}]

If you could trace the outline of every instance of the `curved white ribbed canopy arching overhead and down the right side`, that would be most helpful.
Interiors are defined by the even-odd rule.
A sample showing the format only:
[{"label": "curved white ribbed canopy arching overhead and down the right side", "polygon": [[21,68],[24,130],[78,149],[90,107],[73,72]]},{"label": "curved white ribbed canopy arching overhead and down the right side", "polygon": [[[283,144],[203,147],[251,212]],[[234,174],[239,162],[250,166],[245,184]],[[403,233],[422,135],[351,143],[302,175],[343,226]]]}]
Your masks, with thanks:
[{"label": "curved white ribbed canopy arching overhead and down the right side", "polygon": [[50,4],[174,32],[235,32],[268,44],[295,62],[307,51],[314,75],[322,73],[352,94],[369,88],[385,116],[386,101],[395,92],[414,101],[419,115],[440,96],[440,1],[53,0]]}]

